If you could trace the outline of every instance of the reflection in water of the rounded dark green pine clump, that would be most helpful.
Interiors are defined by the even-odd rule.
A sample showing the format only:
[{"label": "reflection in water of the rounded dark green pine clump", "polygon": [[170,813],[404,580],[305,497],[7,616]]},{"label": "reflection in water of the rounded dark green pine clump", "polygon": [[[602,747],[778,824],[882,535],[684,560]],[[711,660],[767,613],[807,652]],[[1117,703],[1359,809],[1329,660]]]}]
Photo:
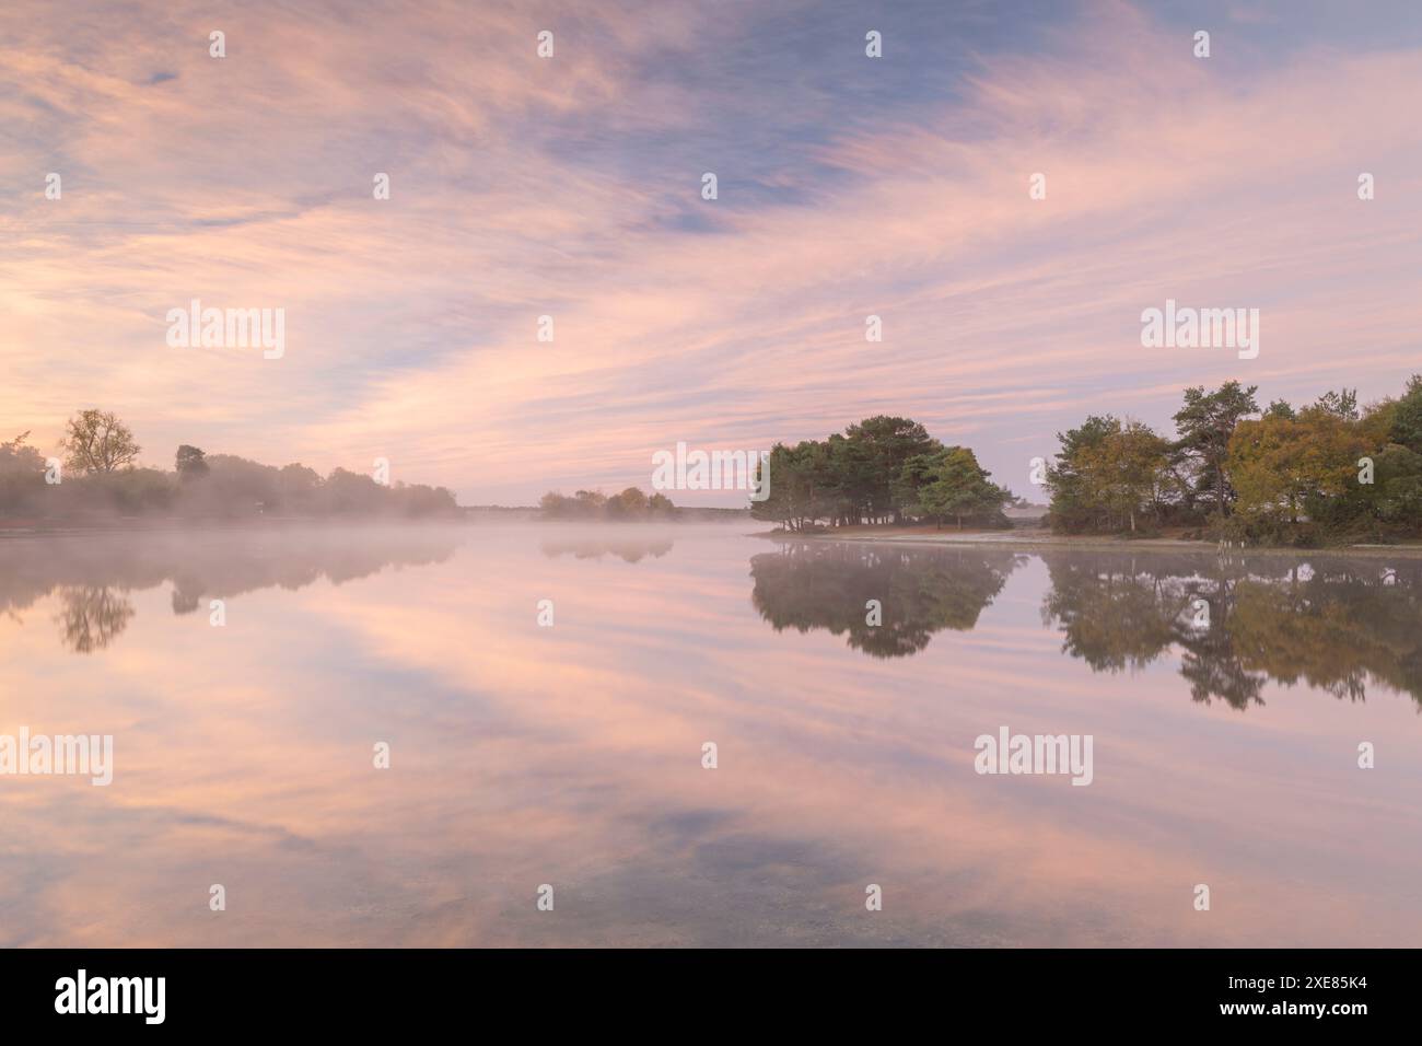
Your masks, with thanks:
[{"label": "reflection in water of the rounded dark green pine clump", "polygon": [[[751,602],[776,632],[829,629],[872,657],[903,657],[964,632],[1025,555],[973,548],[786,542],[751,558]],[[869,623],[877,599],[883,623]]]}]

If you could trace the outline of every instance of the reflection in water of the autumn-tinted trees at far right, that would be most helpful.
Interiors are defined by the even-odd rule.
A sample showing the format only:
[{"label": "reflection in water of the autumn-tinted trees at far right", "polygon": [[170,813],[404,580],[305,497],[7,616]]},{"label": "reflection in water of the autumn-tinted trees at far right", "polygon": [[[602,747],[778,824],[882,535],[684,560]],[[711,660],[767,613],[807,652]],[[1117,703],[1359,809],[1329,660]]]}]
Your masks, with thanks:
[{"label": "reflection in water of the autumn-tinted trees at far right", "polygon": [[[1180,652],[1197,702],[1246,709],[1264,683],[1362,700],[1369,683],[1422,704],[1422,562],[1372,558],[1047,555],[1042,620],[1099,672]],[[1197,625],[1194,601],[1209,605]]]}]

